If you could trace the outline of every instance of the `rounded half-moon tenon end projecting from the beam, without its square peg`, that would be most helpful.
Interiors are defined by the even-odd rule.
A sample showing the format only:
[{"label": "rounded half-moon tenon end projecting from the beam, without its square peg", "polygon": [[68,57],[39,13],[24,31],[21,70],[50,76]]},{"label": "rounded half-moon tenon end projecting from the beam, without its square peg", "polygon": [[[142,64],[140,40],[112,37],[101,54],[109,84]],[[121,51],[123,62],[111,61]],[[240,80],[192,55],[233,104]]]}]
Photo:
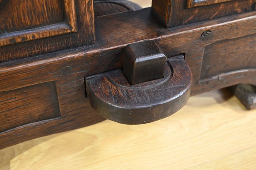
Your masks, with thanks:
[{"label": "rounded half-moon tenon end projecting from the beam, without its square peg", "polygon": [[130,85],[121,69],[86,77],[91,106],[106,119],[129,125],[179,111],[190,96],[191,71],[183,57],[169,58],[164,77]]}]

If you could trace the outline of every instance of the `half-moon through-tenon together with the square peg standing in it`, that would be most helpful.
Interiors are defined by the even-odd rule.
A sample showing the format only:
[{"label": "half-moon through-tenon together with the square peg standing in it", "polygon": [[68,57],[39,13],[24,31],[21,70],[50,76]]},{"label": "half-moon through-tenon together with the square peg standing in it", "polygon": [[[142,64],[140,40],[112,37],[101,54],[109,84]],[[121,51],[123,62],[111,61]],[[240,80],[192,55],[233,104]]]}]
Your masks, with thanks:
[{"label": "half-moon through-tenon together with the square peg standing in it", "polygon": [[106,119],[135,125],[182,108],[190,96],[191,71],[184,55],[166,57],[154,41],[127,45],[123,68],[86,77],[91,106]]}]

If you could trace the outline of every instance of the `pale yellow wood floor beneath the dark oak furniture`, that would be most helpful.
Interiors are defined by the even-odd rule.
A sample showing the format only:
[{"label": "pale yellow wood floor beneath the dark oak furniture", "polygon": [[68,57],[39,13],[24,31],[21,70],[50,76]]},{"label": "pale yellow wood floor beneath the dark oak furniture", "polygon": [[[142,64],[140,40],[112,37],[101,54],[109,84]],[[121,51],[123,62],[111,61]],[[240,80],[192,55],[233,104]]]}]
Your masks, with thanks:
[{"label": "pale yellow wood floor beneath the dark oak furniture", "polygon": [[255,170],[256,111],[228,91],[144,125],[104,121],[0,150],[1,170]]}]

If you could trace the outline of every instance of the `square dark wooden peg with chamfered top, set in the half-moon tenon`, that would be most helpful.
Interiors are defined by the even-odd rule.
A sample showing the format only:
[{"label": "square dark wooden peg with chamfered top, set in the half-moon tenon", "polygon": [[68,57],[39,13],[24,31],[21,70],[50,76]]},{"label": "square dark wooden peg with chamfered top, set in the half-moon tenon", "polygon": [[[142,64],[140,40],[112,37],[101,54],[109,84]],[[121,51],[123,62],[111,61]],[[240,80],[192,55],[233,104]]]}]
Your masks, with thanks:
[{"label": "square dark wooden peg with chamfered top, set in the half-moon tenon", "polygon": [[124,49],[123,72],[131,85],[160,79],[166,59],[154,41],[131,44]]}]

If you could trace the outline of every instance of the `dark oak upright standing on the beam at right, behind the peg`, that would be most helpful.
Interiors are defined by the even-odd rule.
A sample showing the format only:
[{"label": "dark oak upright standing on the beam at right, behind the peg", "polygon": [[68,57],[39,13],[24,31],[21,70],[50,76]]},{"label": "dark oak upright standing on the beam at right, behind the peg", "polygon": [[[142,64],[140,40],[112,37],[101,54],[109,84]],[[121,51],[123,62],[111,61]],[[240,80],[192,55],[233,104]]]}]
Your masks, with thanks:
[{"label": "dark oak upright standing on the beam at right, behind the peg", "polygon": [[256,0],[152,0],[152,8],[169,28],[254,11],[255,3]]}]

